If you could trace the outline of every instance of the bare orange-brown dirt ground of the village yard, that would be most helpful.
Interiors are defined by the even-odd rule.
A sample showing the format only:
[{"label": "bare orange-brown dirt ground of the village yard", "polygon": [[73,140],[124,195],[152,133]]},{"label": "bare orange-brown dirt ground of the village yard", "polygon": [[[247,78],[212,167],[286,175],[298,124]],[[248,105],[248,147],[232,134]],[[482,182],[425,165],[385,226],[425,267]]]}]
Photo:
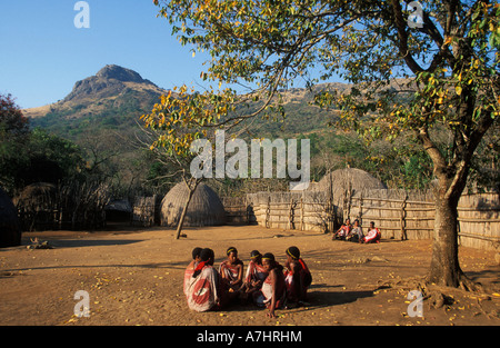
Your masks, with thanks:
[{"label": "bare orange-brown dirt ground of the village yard", "polygon": [[[431,242],[383,239],[379,245],[332,241],[329,235],[256,226],[184,229],[110,227],[107,231],[46,231],[23,235],[23,246],[0,249],[0,325],[28,326],[498,326],[500,267],[492,251],[460,247],[466,274],[488,287],[478,295],[440,289],[439,308],[423,300],[423,317],[410,316],[409,291],[429,267]],[[30,250],[29,238],[53,249]],[[278,318],[252,305],[198,314],[188,309],[183,272],[194,247],[209,247],[216,262],[236,247],[247,265],[250,251],[297,246],[312,272],[309,305],[278,310]],[[74,294],[88,291],[90,317],[78,318]]]}]

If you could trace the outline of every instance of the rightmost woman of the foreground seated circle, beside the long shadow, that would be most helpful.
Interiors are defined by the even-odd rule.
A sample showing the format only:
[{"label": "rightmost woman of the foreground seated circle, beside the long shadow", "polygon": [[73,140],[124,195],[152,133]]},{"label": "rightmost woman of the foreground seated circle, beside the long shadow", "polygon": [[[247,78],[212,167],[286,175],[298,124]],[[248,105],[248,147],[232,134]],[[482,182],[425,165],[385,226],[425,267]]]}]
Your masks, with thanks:
[{"label": "rightmost woman of the foreground seated circle, beside the long shadow", "polygon": [[286,251],[287,261],[284,267],[284,281],[287,284],[287,297],[290,304],[303,305],[307,300],[307,291],[311,285],[312,277],[306,262],[300,258],[300,250],[290,247]]}]

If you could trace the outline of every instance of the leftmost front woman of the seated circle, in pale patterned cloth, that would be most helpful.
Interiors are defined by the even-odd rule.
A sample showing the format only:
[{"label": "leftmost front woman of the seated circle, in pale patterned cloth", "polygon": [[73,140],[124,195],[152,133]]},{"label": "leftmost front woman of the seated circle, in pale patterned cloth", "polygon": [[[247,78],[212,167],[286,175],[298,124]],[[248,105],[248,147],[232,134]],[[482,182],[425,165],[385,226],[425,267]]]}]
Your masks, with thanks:
[{"label": "leftmost front woman of the seated circle, in pale patterned cloth", "polygon": [[213,250],[200,251],[200,262],[194,268],[187,287],[188,307],[196,311],[220,308],[219,275],[213,266]]}]

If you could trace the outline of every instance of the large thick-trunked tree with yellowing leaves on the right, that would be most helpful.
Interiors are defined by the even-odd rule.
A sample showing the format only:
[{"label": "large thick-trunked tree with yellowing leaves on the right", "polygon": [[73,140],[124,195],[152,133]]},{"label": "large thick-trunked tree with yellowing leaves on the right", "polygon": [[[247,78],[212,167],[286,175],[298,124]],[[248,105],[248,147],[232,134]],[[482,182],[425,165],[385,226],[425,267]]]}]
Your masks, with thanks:
[{"label": "large thick-trunked tree with yellowing leaves on the right", "polygon": [[[193,130],[189,137],[196,138],[201,136],[198,126],[228,127],[262,113],[282,113],[279,90],[301,80],[317,92],[318,105],[336,111],[337,125],[389,141],[412,132],[432,160],[438,181],[428,279],[443,286],[473,286],[459,265],[457,206],[474,151],[499,116],[498,3],[153,2],[182,44],[192,44],[193,53],[210,54],[200,78],[216,87],[181,93],[177,99],[181,106],[163,98],[150,125],[184,122]],[[357,87],[346,93],[312,89],[336,76]],[[257,111],[241,107],[256,101]],[[169,127],[164,129],[168,135]],[[189,142],[186,133],[181,139]]]}]

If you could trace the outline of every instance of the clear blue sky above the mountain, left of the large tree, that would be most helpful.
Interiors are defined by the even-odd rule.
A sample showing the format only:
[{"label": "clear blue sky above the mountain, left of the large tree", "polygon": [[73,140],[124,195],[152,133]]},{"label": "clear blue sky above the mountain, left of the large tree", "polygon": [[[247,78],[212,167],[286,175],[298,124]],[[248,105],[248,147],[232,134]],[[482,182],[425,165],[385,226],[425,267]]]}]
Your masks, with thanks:
[{"label": "clear blue sky above the mountain, left of the large tree", "polygon": [[180,46],[152,0],[87,0],[89,29],[74,27],[77,2],[0,2],[0,93],[11,93],[21,108],[52,103],[106,64],[166,89],[200,82],[207,57]]}]

